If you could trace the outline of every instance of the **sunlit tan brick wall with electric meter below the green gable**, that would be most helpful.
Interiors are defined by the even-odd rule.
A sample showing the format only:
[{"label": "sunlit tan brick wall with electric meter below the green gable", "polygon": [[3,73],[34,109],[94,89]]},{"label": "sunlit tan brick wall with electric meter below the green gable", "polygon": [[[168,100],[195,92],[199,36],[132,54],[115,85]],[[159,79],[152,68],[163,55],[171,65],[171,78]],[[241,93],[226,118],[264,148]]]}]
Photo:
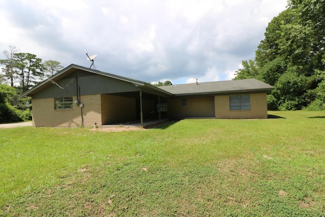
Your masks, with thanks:
[{"label": "sunlit tan brick wall with electric meter below the green gable", "polygon": [[[73,101],[76,97],[73,97]],[[84,126],[102,125],[101,95],[81,96]],[[74,104],[72,109],[54,109],[54,98],[32,99],[32,123],[34,127],[80,127],[81,108]]]}]

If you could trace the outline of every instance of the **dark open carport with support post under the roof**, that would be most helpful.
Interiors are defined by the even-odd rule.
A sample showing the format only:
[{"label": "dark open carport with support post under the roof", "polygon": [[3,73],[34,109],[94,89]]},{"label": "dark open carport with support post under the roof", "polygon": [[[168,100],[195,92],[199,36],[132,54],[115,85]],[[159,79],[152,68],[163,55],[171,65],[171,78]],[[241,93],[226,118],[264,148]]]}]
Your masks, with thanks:
[{"label": "dark open carport with support post under the roof", "polygon": [[[166,94],[159,88],[138,86],[139,91],[115,92],[102,95],[102,124],[108,125],[151,125],[168,118]],[[131,125],[131,126],[132,126]]]}]

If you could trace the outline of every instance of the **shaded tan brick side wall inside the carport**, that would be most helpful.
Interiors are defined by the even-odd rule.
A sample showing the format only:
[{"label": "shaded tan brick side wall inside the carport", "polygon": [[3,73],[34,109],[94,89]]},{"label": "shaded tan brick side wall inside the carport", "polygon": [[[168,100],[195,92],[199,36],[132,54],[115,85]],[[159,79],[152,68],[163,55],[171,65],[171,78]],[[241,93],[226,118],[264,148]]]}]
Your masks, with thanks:
[{"label": "shaded tan brick side wall inside the carport", "polygon": [[136,99],[102,95],[101,100],[103,125],[136,119]]}]

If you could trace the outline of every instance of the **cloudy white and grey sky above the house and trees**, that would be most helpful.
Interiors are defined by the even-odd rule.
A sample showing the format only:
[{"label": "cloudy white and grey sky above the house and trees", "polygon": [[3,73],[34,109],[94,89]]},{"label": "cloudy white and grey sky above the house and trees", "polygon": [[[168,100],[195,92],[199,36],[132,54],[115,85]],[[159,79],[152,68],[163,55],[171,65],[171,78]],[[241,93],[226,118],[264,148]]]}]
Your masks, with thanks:
[{"label": "cloudy white and grey sky above the house and trees", "polygon": [[[0,0],[0,51],[145,82],[231,80],[286,0]],[[4,58],[0,53],[0,58]]]}]

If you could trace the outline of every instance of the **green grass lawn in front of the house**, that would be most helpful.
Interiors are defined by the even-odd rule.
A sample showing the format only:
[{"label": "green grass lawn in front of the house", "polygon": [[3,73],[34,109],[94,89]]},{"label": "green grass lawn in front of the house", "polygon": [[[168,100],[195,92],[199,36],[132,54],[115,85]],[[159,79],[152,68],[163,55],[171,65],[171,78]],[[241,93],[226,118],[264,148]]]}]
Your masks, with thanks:
[{"label": "green grass lawn in front of the house", "polygon": [[325,112],[269,114],[0,129],[0,216],[325,215]]}]

